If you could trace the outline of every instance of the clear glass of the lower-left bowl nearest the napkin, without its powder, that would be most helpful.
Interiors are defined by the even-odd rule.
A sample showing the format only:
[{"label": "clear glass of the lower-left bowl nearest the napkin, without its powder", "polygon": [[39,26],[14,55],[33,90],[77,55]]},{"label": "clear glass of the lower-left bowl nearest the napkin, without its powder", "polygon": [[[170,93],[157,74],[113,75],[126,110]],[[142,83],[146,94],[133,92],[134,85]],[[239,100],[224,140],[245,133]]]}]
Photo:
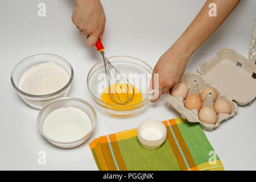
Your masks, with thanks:
[{"label": "clear glass of the lower-left bowl nearest the napkin, without its powder", "polygon": [[[92,129],[89,131],[89,133],[86,134],[81,139],[73,141],[73,142],[59,142],[59,141],[56,141],[56,140],[53,140],[53,139],[47,137],[47,135],[44,134],[44,131],[43,131],[44,121],[47,118],[47,116],[50,113],[52,113],[52,111],[54,111],[56,109],[60,109],[61,107],[76,107],[77,109],[81,109],[82,111],[84,111],[90,118],[90,123],[92,124]],[[93,130],[95,129],[96,122],[97,122],[97,115],[96,115],[96,111],[94,110],[93,106],[90,105],[88,102],[81,100],[80,98],[73,98],[73,97],[58,98],[58,99],[50,102],[38,114],[38,129],[39,129],[40,133],[43,135],[44,138],[46,138],[49,142],[51,142],[55,146],[63,147],[63,148],[76,147],[76,146],[79,146],[80,144],[84,143],[85,140],[87,140],[90,137]]]}]

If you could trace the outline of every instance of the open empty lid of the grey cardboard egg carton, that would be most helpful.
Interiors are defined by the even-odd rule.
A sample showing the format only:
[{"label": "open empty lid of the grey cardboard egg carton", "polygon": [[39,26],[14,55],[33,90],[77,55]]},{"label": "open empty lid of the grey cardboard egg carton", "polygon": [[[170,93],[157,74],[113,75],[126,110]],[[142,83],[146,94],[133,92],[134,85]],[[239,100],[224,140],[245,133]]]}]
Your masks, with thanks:
[{"label": "open empty lid of the grey cardboard egg carton", "polygon": [[249,104],[256,96],[256,65],[233,48],[221,48],[198,71],[238,105]]}]

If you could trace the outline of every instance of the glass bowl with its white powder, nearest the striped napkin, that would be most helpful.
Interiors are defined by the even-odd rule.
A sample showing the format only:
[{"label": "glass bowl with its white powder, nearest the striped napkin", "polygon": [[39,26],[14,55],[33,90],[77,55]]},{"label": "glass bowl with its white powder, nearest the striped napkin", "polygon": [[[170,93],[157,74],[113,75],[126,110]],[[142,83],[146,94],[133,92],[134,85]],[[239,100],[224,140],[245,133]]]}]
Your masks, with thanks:
[{"label": "glass bowl with its white powder, nearest the striped napkin", "polygon": [[96,111],[88,102],[75,97],[58,98],[38,114],[38,129],[50,143],[71,148],[84,143],[97,122]]}]

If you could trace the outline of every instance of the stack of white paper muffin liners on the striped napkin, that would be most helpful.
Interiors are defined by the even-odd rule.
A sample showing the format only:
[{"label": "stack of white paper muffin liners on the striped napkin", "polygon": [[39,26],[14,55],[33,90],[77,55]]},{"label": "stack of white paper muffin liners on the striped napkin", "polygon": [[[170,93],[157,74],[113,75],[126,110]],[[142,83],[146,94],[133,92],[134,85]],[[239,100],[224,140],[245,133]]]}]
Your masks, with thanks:
[{"label": "stack of white paper muffin liners on the striped napkin", "polygon": [[[142,136],[142,133],[147,129],[157,130],[162,136],[160,138],[155,139],[146,139]],[[139,139],[139,143],[141,143],[141,145],[144,148],[146,148],[147,150],[155,150],[156,148],[159,148],[163,144],[164,140],[166,140],[166,126],[164,126],[164,124],[158,120],[146,119],[139,124],[137,130],[137,137]]]}]

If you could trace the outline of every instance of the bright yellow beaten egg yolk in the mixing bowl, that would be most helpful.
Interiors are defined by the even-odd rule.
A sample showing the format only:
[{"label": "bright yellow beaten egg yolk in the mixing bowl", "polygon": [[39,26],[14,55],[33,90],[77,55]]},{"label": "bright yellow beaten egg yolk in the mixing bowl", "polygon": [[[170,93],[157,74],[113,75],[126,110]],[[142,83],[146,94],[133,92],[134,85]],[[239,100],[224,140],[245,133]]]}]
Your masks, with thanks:
[{"label": "bright yellow beaten egg yolk in the mixing bowl", "polygon": [[[134,96],[130,100],[129,95],[130,97],[132,96],[133,90],[134,90]],[[117,109],[117,110],[134,109],[135,107],[137,107],[136,104],[142,101],[142,94],[139,91],[139,89],[135,88],[135,86],[133,86],[133,90],[131,89],[131,86],[129,88],[129,86],[126,84],[110,85],[110,87],[106,88],[102,93],[101,100],[108,104],[111,104],[111,106],[109,107],[112,109]],[[117,104],[110,98],[109,92],[112,93],[112,97],[114,97],[114,100],[117,101],[118,103],[121,103],[121,102],[125,103],[128,100],[130,101],[127,102],[126,104]],[[128,96],[127,96],[127,93],[128,93]]]}]

